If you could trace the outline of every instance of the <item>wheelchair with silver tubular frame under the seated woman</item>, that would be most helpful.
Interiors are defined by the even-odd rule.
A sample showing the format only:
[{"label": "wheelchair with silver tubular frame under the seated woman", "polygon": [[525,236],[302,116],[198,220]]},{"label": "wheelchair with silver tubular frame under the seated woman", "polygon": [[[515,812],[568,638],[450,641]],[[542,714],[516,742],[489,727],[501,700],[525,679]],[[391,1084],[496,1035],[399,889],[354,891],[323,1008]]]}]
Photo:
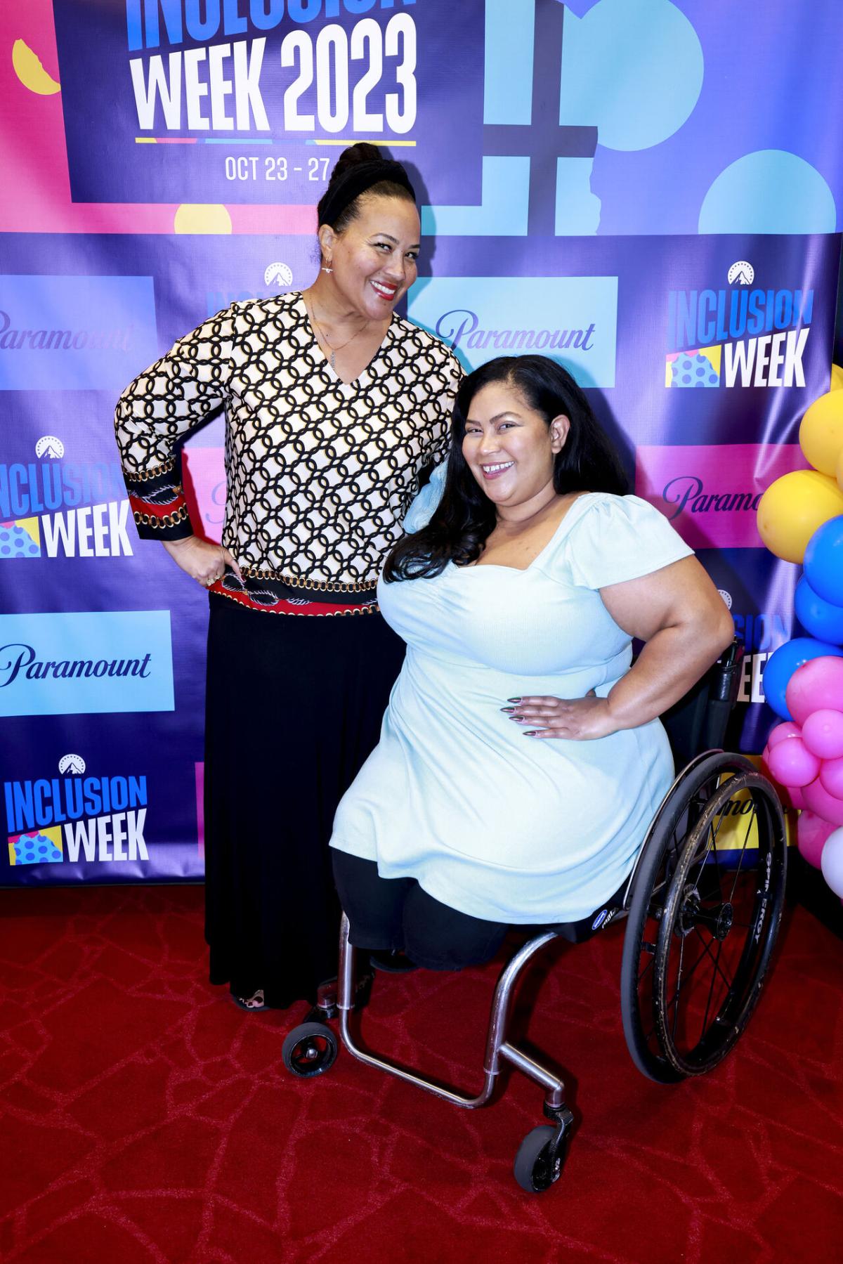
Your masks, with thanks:
[{"label": "wheelchair with silver tubular frame under the seated woman", "polygon": [[[742,650],[732,647],[662,723],[682,771],[665,795],[627,880],[619,906],[591,930],[626,920],[621,967],[623,1033],[638,1071],[662,1085],[712,1071],[747,1026],[776,942],[785,896],[787,847],[782,808],[771,782],[741,755],[720,750],[734,705]],[[525,928],[517,928],[525,929]],[[493,1097],[504,1063],[545,1091],[545,1116],[522,1140],[514,1177],[541,1193],[560,1177],[574,1115],[565,1085],[508,1039],[513,994],[527,964],[560,928],[528,928],[531,938],[503,967],[489,1016],[483,1087],[476,1096],[428,1079],[365,1049],[353,1014],[368,1001],[372,975],[358,980],[349,920],[340,928],[336,981],[322,985],[308,1020],[283,1043],[294,1076],[329,1071],[339,1043],[353,1057],[455,1106]],[[365,953],[364,953],[365,957]]]}]

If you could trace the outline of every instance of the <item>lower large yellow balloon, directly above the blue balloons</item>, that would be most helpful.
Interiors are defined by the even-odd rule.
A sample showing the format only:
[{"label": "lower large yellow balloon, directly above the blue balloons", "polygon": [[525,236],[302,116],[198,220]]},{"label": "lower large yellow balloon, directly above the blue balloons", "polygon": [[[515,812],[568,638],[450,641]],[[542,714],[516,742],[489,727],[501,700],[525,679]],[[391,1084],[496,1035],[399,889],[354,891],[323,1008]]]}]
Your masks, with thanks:
[{"label": "lower large yellow balloon, directly above the blue balloons", "polygon": [[818,527],[843,513],[843,490],[828,474],[794,470],[771,483],[758,502],[758,535],[770,552],[801,562]]}]

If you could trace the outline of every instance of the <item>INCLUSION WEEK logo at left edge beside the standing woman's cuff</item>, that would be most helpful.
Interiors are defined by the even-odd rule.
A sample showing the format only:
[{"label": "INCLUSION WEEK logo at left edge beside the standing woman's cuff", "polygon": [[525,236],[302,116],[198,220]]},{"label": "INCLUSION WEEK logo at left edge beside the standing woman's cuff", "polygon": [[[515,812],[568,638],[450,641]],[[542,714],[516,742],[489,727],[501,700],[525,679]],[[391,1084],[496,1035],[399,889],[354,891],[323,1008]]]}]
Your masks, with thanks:
[{"label": "INCLUSION WEEK logo at left edge beside the standing woman's cuff", "polygon": [[116,461],[66,461],[57,435],[42,435],[34,455],[0,463],[0,561],[131,556]]}]

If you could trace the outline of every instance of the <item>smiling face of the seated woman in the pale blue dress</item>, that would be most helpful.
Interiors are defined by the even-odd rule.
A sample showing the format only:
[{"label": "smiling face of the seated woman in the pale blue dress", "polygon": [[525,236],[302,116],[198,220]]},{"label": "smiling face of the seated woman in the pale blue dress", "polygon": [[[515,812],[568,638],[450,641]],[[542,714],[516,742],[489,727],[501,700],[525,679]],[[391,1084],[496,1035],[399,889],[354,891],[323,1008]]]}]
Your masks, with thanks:
[{"label": "smiling face of the seated woman in the pale blue dress", "polygon": [[490,501],[502,509],[530,509],[554,494],[554,459],[570,422],[547,425],[516,387],[490,382],[471,399],[463,456]]}]

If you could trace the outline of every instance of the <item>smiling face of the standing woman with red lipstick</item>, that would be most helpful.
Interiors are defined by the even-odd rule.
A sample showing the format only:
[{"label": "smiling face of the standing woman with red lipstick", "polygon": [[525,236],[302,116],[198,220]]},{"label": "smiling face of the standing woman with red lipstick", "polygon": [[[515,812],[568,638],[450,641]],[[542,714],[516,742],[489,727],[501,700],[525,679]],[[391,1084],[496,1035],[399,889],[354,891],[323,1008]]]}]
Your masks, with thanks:
[{"label": "smiling face of the standing woman with red lipstick", "polygon": [[322,258],[341,298],[367,320],[385,320],[416,279],[418,211],[401,197],[363,197],[344,233],[324,224]]}]

